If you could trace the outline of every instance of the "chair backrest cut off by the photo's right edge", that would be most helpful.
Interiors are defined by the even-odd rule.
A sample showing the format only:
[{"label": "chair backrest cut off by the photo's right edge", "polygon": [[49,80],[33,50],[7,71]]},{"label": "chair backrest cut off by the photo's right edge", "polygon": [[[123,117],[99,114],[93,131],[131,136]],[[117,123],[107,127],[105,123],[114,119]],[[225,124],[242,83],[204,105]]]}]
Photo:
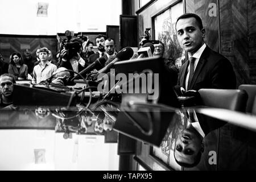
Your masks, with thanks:
[{"label": "chair backrest cut off by the photo's right edge", "polygon": [[246,104],[246,112],[247,113],[252,113],[254,98],[256,96],[256,85],[240,85],[238,87],[238,89],[245,90],[247,92],[248,101],[247,101],[247,104]]}]

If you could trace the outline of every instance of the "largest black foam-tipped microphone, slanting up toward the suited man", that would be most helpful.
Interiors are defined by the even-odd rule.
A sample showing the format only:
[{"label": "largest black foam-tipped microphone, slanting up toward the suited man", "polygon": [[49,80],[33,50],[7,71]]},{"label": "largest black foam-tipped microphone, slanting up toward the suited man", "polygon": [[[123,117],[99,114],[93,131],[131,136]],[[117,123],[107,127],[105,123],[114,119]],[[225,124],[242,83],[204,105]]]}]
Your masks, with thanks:
[{"label": "largest black foam-tipped microphone, slanting up toward the suited man", "polygon": [[133,49],[130,47],[123,48],[121,51],[115,55],[115,59],[111,61],[106,67],[102,68],[99,72],[100,73],[108,73],[110,68],[114,66],[114,63],[117,61],[129,60],[133,56]]}]

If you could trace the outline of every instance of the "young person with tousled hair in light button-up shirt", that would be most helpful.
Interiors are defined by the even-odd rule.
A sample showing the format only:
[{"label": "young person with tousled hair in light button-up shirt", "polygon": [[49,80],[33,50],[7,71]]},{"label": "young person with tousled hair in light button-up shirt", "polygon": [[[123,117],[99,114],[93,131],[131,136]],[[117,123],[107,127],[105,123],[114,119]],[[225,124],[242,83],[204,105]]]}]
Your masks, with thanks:
[{"label": "young person with tousled hair in light button-up shirt", "polygon": [[35,79],[36,84],[39,84],[41,81],[47,80],[50,78],[57,70],[56,65],[49,63],[48,61],[49,51],[46,47],[43,47],[39,51],[40,63],[34,67],[33,78]]}]

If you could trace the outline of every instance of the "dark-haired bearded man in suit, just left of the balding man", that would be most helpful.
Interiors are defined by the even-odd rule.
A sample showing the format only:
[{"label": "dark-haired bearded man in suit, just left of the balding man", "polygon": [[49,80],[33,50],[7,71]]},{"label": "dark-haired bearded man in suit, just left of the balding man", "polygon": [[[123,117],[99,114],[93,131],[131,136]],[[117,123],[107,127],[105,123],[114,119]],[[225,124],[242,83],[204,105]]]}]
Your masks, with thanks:
[{"label": "dark-haired bearded man in suit, just left of the balding man", "polygon": [[96,40],[96,45],[98,47],[98,52],[89,56],[88,61],[90,64],[96,61],[99,57],[105,57],[106,60],[108,60],[108,57],[106,56],[106,51],[105,51],[106,36],[100,34],[96,37],[95,40]]}]

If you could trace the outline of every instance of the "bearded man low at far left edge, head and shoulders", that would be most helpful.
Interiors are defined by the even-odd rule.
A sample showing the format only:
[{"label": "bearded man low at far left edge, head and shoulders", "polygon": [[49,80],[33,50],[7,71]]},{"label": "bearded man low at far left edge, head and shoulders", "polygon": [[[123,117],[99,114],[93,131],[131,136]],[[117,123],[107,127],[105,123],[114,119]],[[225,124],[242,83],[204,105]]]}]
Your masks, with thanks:
[{"label": "bearded man low at far left edge, head and shoulders", "polygon": [[15,78],[9,73],[0,76],[0,108],[7,107],[13,104],[13,84]]}]

